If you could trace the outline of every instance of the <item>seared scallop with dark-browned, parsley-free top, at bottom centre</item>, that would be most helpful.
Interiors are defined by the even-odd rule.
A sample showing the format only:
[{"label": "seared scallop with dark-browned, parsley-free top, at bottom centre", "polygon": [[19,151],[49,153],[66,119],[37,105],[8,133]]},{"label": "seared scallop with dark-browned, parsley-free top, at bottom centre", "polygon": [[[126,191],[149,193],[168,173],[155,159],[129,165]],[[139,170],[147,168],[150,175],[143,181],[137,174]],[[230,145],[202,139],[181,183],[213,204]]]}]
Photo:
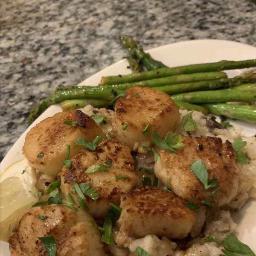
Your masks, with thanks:
[{"label": "seared scallop with dark-browned, parsley-free top, at bottom centre", "polygon": [[128,236],[185,238],[196,223],[196,212],[185,207],[185,203],[174,193],[153,186],[136,187],[125,193],[121,197],[116,243],[127,243],[121,238]]}]

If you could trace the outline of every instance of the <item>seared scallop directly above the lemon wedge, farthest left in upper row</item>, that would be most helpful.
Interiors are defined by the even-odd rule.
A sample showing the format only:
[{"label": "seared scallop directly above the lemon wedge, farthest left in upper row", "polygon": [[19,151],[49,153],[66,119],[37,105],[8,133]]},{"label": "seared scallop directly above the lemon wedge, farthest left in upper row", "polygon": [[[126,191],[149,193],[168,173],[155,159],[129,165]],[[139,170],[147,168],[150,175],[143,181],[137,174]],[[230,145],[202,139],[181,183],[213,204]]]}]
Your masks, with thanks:
[{"label": "seared scallop directly above the lemon wedge, farthest left in upper row", "polygon": [[[63,122],[76,122],[76,127]],[[66,111],[44,119],[26,135],[23,154],[34,168],[47,175],[58,176],[70,145],[70,158],[82,149],[75,145],[82,137],[93,142],[96,136],[105,137],[94,120],[81,111]]]}]

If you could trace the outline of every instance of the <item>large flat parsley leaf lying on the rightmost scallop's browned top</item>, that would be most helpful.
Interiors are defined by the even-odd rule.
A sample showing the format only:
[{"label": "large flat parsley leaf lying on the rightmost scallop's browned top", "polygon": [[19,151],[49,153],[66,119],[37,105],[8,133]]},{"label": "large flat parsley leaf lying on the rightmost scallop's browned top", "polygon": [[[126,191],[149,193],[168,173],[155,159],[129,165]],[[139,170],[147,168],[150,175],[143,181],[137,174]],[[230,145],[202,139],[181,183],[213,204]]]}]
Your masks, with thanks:
[{"label": "large flat parsley leaf lying on the rightmost scallop's browned top", "polygon": [[194,172],[195,176],[198,177],[201,183],[203,183],[205,189],[214,188],[216,186],[217,180],[215,178],[212,178],[208,183],[208,172],[201,159],[192,163],[190,169]]}]

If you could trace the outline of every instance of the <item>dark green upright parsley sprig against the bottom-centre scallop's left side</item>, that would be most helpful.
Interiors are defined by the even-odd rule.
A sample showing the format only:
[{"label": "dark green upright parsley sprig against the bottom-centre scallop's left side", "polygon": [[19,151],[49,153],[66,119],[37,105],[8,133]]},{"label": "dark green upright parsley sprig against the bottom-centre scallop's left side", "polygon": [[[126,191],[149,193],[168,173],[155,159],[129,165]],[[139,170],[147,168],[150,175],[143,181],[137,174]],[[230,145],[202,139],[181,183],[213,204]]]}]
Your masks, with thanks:
[{"label": "dark green upright parsley sprig against the bottom-centre scallop's left side", "polygon": [[101,238],[102,243],[110,244],[110,245],[114,244],[112,227],[113,227],[113,223],[117,221],[121,213],[120,210],[117,209],[117,207],[112,206],[111,209],[108,209],[108,212],[105,217],[103,229],[102,229],[102,238]]}]

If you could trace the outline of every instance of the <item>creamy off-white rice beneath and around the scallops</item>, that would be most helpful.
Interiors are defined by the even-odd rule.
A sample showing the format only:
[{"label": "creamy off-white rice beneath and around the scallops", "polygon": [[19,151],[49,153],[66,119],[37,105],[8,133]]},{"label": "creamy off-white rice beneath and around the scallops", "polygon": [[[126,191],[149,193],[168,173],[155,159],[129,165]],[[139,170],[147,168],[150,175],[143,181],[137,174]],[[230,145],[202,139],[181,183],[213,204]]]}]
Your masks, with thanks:
[{"label": "creamy off-white rice beneath and around the scallops", "polygon": [[[81,111],[89,116],[93,114],[106,116],[107,123],[101,124],[100,126],[109,138],[108,132],[112,131],[111,119],[114,116],[114,111],[105,108],[97,109],[90,105],[87,105],[85,108],[81,109]],[[175,133],[188,136],[181,125],[181,120],[187,113],[187,110],[180,110],[180,125]],[[209,234],[212,234],[215,239],[223,240],[226,235],[233,233],[236,224],[230,217],[230,210],[237,211],[246,201],[256,198],[256,137],[245,137],[243,128],[209,128],[206,125],[207,120],[204,118],[204,115],[198,111],[194,111],[192,117],[195,122],[200,125],[200,128],[190,132],[192,137],[219,137],[223,142],[229,140],[231,143],[238,138],[247,141],[247,145],[242,148],[242,151],[247,155],[248,160],[245,165],[239,165],[237,169],[239,173],[239,189],[236,197],[227,206],[222,207],[227,210],[219,209],[214,213],[208,210],[208,212],[206,212],[206,226],[203,236],[192,239],[192,241],[189,242],[189,248],[185,251],[175,249],[177,244],[166,237],[159,239],[155,235],[148,235],[142,239],[134,239],[131,244],[128,244],[129,249],[120,249],[120,247],[116,245],[109,247],[114,256],[136,256],[137,254],[134,253],[134,251],[138,246],[142,247],[152,256],[218,256],[222,254],[221,249],[223,248],[219,247],[219,245],[214,242],[204,243],[204,239]],[[111,137],[114,138],[115,135],[111,134]],[[146,154],[138,154],[136,162],[136,185],[140,186],[142,185],[143,177],[147,175],[143,168],[152,168],[154,165],[153,153],[150,151]],[[161,186],[164,186],[164,184],[159,181],[159,187]]]}]

